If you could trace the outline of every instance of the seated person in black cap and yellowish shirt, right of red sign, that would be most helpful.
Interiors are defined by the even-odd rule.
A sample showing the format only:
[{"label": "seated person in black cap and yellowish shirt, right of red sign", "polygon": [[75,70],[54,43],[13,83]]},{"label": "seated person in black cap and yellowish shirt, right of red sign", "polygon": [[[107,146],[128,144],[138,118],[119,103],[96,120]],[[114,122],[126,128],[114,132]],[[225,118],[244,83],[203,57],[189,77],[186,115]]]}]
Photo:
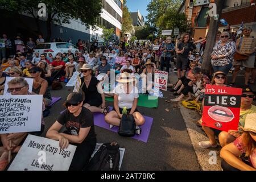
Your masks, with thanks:
[{"label": "seated person in black cap and yellowish shirt, right of red sign", "polygon": [[199,146],[202,148],[217,147],[217,141],[215,139],[215,136],[218,137],[220,141],[220,145],[222,147],[233,142],[234,140],[236,140],[237,137],[240,137],[240,131],[241,131],[240,127],[245,126],[246,115],[256,112],[256,106],[252,105],[254,97],[255,97],[254,93],[250,88],[242,89],[240,118],[239,118],[239,125],[238,125],[237,131],[229,130],[228,132],[225,132],[217,129],[212,129],[207,126],[202,126],[203,130],[209,137],[209,141],[199,142]]}]

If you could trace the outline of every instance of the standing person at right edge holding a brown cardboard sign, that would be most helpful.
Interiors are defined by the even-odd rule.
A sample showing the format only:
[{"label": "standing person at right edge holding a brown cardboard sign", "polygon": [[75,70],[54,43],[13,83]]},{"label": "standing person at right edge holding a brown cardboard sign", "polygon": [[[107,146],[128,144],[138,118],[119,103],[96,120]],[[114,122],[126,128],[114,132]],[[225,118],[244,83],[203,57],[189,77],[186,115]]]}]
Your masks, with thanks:
[{"label": "standing person at right edge holding a brown cardboard sign", "polygon": [[[237,49],[236,52],[240,55],[247,56],[245,60],[234,60],[233,65],[235,67],[235,70],[233,72],[232,76],[232,82],[230,85],[234,85],[234,82],[236,81],[238,72],[240,71],[240,67],[245,67],[245,85],[248,85],[249,78],[250,78],[250,72],[251,69],[254,68],[254,61],[255,61],[255,51],[256,51],[256,39],[251,36],[251,28],[246,27],[242,29],[243,36],[239,39],[237,39]],[[254,49],[251,49],[248,53],[242,53],[240,51],[242,42],[246,38],[254,39]],[[251,84],[254,84],[254,80],[251,80]]]}]

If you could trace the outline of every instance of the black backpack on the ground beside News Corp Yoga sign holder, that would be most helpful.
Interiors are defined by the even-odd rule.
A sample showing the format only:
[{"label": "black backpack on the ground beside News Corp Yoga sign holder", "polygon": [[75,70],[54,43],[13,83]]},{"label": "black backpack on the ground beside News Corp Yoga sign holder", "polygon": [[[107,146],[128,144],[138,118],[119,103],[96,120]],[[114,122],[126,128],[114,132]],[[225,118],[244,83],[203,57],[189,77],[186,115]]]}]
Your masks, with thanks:
[{"label": "black backpack on the ground beside News Corp Yoga sign holder", "polygon": [[104,143],[88,164],[88,171],[118,171],[120,151],[117,143]]}]

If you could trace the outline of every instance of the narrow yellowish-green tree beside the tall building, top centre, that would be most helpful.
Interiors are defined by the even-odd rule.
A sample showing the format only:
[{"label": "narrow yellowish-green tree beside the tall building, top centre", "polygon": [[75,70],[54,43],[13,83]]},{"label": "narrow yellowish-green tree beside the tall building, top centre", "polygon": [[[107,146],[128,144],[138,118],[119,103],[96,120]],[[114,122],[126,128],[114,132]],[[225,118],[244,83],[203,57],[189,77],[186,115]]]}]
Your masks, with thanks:
[{"label": "narrow yellowish-green tree beside the tall building, top centre", "polygon": [[123,17],[122,17],[122,32],[127,33],[133,30],[133,19],[129,13],[129,9],[126,6],[126,0],[123,1]]}]

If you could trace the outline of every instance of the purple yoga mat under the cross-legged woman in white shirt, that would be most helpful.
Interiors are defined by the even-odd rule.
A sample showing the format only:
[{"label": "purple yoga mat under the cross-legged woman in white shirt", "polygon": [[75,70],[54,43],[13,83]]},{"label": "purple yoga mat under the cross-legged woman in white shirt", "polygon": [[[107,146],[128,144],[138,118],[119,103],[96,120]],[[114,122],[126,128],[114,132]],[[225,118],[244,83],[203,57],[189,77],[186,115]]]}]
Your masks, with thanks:
[{"label": "purple yoga mat under the cross-legged woman in white shirt", "polygon": [[[110,110],[112,110],[112,107],[110,107]],[[64,112],[65,110],[61,111],[61,114]],[[118,127],[114,126],[112,127],[112,129],[109,128],[109,123],[106,123],[105,121],[105,115],[102,113],[94,113],[94,125],[99,126],[99,127],[103,127],[104,129],[110,130],[110,131],[114,131],[115,133],[117,133],[118,131]],[[153,119],[151,117],[147,117],[145,115],[143,115],[143,117],[145,118],[145,123],[142,126],[139,126],[142,130],[141,135],[135,135],[134,139],[140,140],[142,142],[147,143],[149,134],[150,134],[150,129],[153,123]]]}]

